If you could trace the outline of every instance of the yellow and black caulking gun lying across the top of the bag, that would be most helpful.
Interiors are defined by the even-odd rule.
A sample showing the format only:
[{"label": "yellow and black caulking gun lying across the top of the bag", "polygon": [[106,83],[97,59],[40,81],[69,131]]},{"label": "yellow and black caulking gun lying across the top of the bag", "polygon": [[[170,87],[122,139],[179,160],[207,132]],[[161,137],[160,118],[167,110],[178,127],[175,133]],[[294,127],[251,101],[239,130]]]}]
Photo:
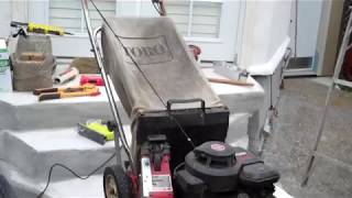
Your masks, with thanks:
[{"label": "yellow and black caulking gun lying across the top of the bag", "polygon": [[38,34],[53,34],[53,35],[65,35],[65,34],[70,34],[73,33],[66,32],[64,29],[55,25],[46,25],[46,24],[37,24],[37,23],[24,23],[24,22],[16,22],[12,21],[10,23],[12,28],[19,29],[18,33],[13,34],[13,37],[16,37],[19,34],[22,34],[26,36],[26,33],[32,32],[32,33],[38,33]]}]

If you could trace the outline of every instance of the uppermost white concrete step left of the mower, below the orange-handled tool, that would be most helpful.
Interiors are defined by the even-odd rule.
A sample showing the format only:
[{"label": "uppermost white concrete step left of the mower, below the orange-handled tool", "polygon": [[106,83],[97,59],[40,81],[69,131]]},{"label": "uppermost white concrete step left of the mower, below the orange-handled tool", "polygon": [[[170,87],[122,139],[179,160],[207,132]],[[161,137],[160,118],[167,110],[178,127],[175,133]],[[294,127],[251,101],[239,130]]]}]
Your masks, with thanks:
[{"label": "uppermost white concrete step left of the mower, below the orange-handled tool", "polygon": [[[0,125],[13,131],[75,127],[89,119],[111,120],[110,106],[105,88],[101,96],[64,98],[59,100],[37,101],[31,92],[3,92],[0,95]],[[120,103],[123,123],[130,123]]]}]

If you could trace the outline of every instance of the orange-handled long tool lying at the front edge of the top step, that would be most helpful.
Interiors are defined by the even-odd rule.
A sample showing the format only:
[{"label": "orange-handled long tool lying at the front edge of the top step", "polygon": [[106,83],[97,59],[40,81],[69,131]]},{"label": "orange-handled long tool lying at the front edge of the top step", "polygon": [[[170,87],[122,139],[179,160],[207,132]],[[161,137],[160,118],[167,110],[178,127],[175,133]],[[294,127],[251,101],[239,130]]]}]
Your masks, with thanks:
[{"label": "orange-handled long tool lying at the front edge of the top step", "polygon": [[38,96],[38,101],[73,98],[84,96],[98,96],[100,95],[99,88],[92,84],[86,84],[84,86],[67,87],[67,88],[43,88],[35,89],[34,95]]}]

